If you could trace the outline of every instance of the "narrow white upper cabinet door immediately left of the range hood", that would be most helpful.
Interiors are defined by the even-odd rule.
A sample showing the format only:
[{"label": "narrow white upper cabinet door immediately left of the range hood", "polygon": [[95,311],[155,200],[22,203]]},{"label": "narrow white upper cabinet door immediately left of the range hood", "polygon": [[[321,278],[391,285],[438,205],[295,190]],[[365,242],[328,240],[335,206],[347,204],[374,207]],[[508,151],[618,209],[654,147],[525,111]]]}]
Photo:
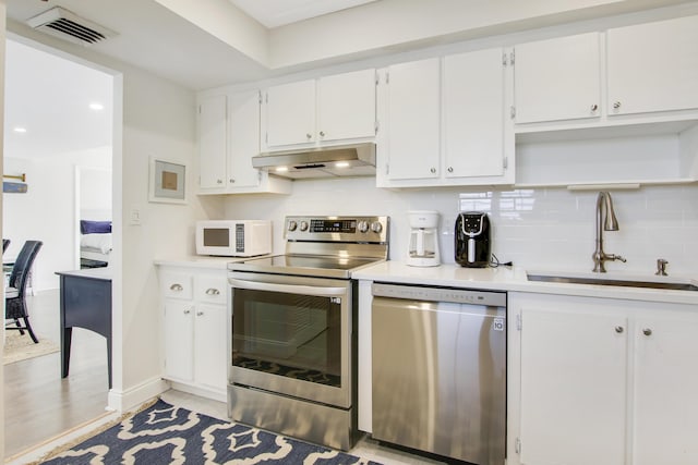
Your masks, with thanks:
[{"label": "narrow white upper cabinet door immediately left of the range hood", "polygon": [[229,187],[255,187],[260,171],[252,168],[252,157],[260,155],[260,94],[229,97],[230,155]]}]

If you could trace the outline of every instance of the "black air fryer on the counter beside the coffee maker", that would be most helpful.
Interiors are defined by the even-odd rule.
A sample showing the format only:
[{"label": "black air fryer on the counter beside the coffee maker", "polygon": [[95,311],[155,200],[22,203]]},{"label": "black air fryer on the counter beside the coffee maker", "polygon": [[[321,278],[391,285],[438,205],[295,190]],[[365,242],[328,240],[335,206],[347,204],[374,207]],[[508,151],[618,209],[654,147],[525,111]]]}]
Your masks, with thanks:
[{"label": "black air fryer on the counter beside the coffee maker", "polygon": [[490,218],[482,211],[466,211],[456,218],[456,262],[461,267],[490,265]]}]

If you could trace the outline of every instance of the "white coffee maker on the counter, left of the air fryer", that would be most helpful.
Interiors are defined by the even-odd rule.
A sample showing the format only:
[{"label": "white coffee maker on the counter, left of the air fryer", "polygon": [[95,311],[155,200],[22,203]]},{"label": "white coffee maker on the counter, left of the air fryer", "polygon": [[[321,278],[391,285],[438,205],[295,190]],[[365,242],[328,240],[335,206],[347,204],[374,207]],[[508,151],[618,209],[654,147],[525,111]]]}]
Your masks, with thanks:
[{"label": "white coffee maker on the counter, left of the air fryer", "polygon": [[410,243],[406,264],[410,267],[437,267],[438,254],[438,211],[412,210],[407,212],[410,224]]}]

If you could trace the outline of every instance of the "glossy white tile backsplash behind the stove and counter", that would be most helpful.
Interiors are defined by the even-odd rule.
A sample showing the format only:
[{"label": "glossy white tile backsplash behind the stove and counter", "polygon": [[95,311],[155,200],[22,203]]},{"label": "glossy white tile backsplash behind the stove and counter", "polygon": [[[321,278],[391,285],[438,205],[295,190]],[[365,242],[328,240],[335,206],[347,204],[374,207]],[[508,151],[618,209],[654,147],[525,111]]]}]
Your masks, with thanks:
[{"label": "glossy white tile backsplash behind the stove and counter", "polygon": [[[473,191],[471,188],[382,189],[373,178],[298,181],[289,196],[230,196],[226,218],[270,219],[274,250],[282,252],[287,215],[387,215],[390,259],[402,260],[408,246],[408,210],[441,213],[441,255],[454,260],[454,225],[459,211],[485,211],[493,253],[517,267],[590,271],[595,237],[595,191],[565,188]],[[654,272],[669,260],[669,274],[698,276],[698,186],[648,186],[611,191],[619,231],[604,231],[604,250],[626,264],[609,271]]]}]

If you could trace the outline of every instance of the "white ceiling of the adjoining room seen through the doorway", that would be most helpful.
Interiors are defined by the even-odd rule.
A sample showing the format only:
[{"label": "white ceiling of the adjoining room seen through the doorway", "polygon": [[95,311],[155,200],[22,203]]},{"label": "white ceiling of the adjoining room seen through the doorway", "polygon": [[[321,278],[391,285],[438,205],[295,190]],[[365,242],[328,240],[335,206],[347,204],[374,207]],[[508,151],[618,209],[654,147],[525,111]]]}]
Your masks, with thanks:
[{"label": "white ceiling of the adjoining room seen through the doorway", "polygon": [[[4,103],[4,157],[50,157],[111,145],[112,78],[103,72],[8,40]],[[91,103],[104,109],[93,110]]]}]

